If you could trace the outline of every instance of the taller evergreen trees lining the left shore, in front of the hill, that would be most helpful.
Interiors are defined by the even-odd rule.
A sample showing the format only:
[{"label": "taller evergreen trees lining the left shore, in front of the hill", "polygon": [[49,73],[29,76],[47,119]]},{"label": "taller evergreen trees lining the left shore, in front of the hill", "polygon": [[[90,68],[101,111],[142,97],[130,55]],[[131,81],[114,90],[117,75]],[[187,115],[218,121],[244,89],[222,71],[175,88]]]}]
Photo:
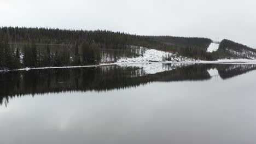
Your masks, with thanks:
[{"label": "taller evergreen trees lining the left shore, in front of the hill", "polygon": [[87,41],[54,51],[50,48],[50,44],[39,47],[32,41],[24,45],[15,45],[9,44],[7,34],[0,36],[0,70],[89,65],[101,61],[100,47]]}]

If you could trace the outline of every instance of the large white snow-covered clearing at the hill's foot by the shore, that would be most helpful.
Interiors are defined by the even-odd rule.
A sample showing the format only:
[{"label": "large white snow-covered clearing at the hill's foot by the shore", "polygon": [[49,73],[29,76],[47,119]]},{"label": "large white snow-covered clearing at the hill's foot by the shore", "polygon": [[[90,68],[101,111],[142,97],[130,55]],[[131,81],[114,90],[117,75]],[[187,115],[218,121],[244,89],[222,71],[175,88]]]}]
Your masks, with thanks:
[{"label": "large white snow-covered clearing at the hill's foot by the shore", "polygon": [[146,49],[142,56],[133,58],[120,58],[117,63],[142,63],[142,62],[165,62],[169,58],[171,62],[195,61],[195,59],[177,56],[171,52]]}]

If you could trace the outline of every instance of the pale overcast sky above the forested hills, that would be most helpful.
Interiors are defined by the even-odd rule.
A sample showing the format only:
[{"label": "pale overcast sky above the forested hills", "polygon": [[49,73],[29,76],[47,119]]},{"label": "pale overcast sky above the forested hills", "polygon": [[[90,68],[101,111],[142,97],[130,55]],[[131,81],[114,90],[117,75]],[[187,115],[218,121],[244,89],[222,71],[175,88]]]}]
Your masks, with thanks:
[{"label": "pale overcast sky above the forested hills", "polygon": [[230,39],[256,49],[255,0],[0,0],[0,26]]}]

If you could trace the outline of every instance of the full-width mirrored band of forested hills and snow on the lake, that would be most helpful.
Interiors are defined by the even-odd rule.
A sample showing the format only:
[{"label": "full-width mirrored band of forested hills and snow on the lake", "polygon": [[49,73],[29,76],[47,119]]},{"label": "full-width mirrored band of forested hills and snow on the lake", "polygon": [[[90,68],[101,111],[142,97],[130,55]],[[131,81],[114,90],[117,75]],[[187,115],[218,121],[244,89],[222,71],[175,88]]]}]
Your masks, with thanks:
[{"label": "full-width mirrored band of forested hills and snow on the lake", "polygon": [[223,80],[255,70],[253,64],[131,64],[72,69],[10,71],[0,74],[0,104],[25,94],[108,91],[150,82]]}]

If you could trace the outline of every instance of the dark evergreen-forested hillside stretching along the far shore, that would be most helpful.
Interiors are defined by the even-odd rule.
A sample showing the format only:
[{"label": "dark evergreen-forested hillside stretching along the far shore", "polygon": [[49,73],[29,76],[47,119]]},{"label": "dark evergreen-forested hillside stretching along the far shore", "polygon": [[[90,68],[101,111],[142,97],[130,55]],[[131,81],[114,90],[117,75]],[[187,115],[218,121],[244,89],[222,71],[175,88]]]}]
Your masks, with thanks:
[{"label": "dark evergreen-forested hillside stretching along the far shore", "polygon": [[0,70],[114,63],[121,57],[142,55],[140,47],[207,61],[256,57],[256,50],[226,39],[220,41],[217,51],[207,52],[212,42],[208,38],[144,36],[101,30],[1,27]]}]

